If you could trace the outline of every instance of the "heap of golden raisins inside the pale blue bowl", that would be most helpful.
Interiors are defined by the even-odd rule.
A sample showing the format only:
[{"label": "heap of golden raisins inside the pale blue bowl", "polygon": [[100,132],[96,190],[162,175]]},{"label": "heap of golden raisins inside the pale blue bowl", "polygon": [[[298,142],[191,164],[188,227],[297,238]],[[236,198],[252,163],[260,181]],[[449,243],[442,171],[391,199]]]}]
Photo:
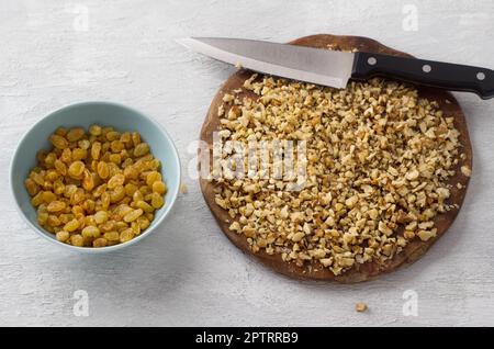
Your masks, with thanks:
[{"label": "heap of golden raisins inside the pale blue bowl", "polygon": [[59,127],[49,140],[54,148],[36,154],[38,165],[24,185],[37,222],[57,240],[104,247],[149,227],[166,184],[159,160],[138,133]]}]

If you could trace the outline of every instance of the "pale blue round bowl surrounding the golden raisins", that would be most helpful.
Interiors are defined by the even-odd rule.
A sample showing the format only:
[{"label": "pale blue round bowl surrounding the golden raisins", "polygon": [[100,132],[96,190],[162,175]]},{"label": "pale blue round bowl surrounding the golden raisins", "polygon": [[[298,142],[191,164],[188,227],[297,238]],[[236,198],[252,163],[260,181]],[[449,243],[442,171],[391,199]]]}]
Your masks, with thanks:
[{"label": "pale blue round bowl surrounding the golden raisins", "polygon": [[[30,170],[36,166],[36,153],[50,149],[49,135],[59,126],[82,126],[92,124],[113,126],[116,131],[136,131],[150,146],[153,155],[161,161],[161,174],[168,187],[165,205],[155,213],[150,226],[132,240],[101,248],[75,247],[58,241],[54,234],[46,232],[36,218],[36,211],[31,205],[31,196],[24,188],[24,180]],[[110,102],[85,102],[71,104],[57,110],[37,122],[22,137],[10,167],[10,185],[15,203],[27,224],[41,236],[54,244],[83,252],[106,252],[131,246],[156,230],[156,227],[170,213],[180,187],[180,160],[177,149],[167,132],[150,117],[131,108]]]}]

